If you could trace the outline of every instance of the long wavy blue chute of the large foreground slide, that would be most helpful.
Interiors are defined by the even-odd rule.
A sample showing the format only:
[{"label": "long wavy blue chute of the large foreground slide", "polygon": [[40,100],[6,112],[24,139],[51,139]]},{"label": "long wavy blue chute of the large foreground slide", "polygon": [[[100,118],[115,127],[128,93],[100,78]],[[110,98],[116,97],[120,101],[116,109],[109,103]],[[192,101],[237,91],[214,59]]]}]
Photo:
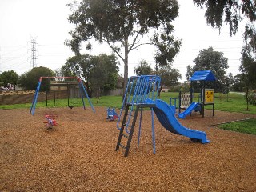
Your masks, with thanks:
[{"label": "long wavy blue chute of the large foreground slide", "polygon": [[192,141],[198,141],[201,143],[208,143],[210,142],[207,140],[206,133],[199,130],[191,130],[182,126],[177,118],[175,118],[174,111],[171,110],[170,106],[160,100],[157,99],[155,102],[154,113],[158,117],[159,122],[161,122],[162,126],[169,130],[171,133],[174,134],[181,134],[190,138]]}]

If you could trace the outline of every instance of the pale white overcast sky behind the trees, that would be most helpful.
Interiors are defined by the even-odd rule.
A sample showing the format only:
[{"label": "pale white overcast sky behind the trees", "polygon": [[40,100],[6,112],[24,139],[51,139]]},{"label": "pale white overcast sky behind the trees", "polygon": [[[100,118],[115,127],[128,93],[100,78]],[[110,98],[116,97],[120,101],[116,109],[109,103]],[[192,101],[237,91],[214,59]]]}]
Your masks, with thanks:
[{"label": "pale white overcast sky behind the trees", "polygon": [[[0,72],[14,70],[23,74],[32,69],[32,41],[34,39],[34,66],[59,69],[66,59],[74,56],[68,46],[69,31],[74,29],[67,18],[71,13],[67,3],[73,0],[1,0],[0,1]],[[179,0],[179,16],[174,21],[174,34],[182,39],[182,47],[174,58],[173,67],[182,74],[181,82],[186,80],[186,66],[194,66],[194,58],[200,50],[210,46],[228,58],[230,66],[227,73],[239,74],[242,50],[242,24],[233,37],[229,27],[214,30],[207,26],[204,10],[194,5],[192,0]],[[93,50],[86,54],[111,54],[104,44],[93,44]],[[134,75],[134,67],[142,60],[154,67],[154,48],[141,46],[129,54],[129,76]],[[120,72],[123,74],[121,62]]]}]

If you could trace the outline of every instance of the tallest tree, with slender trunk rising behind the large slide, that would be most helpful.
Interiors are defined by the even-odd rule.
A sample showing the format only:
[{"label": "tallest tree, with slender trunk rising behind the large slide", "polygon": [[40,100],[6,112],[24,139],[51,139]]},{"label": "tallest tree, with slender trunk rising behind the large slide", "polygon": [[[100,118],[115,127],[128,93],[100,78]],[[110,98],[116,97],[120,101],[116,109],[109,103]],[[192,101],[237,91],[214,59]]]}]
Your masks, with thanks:
[{"label": "tallest tree, with slender trunk rising behind the large slide", "polygon": [[[74,4],[70,4],[74,7]],[[178,53],[181,41],[174,38],[171,22],[178,16],[177,0],[83,0],[69,16],[75,29],[66,45],[80,54],[82,42],[90,39],[106,42],[124,62],[124,87],[128,81],[128,55],[142,45],[154,45],[158,66],[170,65]],[[140,42],[146,34],[153,34],[148,42]],[[125,91],[125,89],[124,89]]]}]

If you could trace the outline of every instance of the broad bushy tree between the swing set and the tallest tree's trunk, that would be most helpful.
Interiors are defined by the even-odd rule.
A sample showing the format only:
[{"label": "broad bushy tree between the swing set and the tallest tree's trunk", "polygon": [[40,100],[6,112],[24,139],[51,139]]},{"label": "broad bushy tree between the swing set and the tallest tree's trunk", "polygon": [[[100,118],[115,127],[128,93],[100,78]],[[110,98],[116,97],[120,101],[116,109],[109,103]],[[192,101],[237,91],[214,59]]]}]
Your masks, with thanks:
[{"label": "broad bushy tree between the swing set and the tallest tree's trunk", "polygon": [[[85,82],[87,93],[92,97],[93,90],[102,91],[113,90],[118,81],[118,59],[114,54],[100,54],[93,56],[80,54],[68,58],[65,66],[62,66],[64,73],[74,74]],[[66,71],[66,72],[65,72]]]}]

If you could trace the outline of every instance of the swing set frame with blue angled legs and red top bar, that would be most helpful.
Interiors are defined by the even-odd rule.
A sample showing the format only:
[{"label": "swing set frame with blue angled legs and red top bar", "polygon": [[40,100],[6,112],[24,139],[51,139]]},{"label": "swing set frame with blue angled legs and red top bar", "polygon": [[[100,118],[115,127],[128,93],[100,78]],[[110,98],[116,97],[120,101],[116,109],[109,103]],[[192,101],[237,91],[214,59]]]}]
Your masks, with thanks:
[{"label": "swing set frame with blue angled legs and red top bar", "polygon": [[[86,96],[86,98],[88,99],[88,102],[90,103],[91,109],[95,113],[94,106],[90,102],[90,98],[89,98],[89,96],[88,96],[88,94],[86,92],[86,88],[83,85],[81,78],[76,78],[76,77],[41,77],[41,78],[39,78],[38,86],[37,86],[37,89],[35,90],[35,93],[34,93],[34,98],[33,98],[33,101],[32,101],[32,105],[30,107],[30,114],[34,115],[34,110],[35,110],[35,107],[37,105],[37,100],[38,100],[38,94],[39,94],[40,86],[41,86],[41,83],[42,83],[42,79],[44,79],[44,78],[53,78],[53,79],[60,78],[60,79],[75,79],[75,80],[77,80],[77,83],[78,83],[78,86],[79,86],[79,90],[80,90],[80,93],[82,95],[82,105],[83,105],[83,108],[86,109],[85,102],[84,102],[84,99],[83,99],[84,96]],[[73,106],[69,106],[69,107],[73,108]]]}]

